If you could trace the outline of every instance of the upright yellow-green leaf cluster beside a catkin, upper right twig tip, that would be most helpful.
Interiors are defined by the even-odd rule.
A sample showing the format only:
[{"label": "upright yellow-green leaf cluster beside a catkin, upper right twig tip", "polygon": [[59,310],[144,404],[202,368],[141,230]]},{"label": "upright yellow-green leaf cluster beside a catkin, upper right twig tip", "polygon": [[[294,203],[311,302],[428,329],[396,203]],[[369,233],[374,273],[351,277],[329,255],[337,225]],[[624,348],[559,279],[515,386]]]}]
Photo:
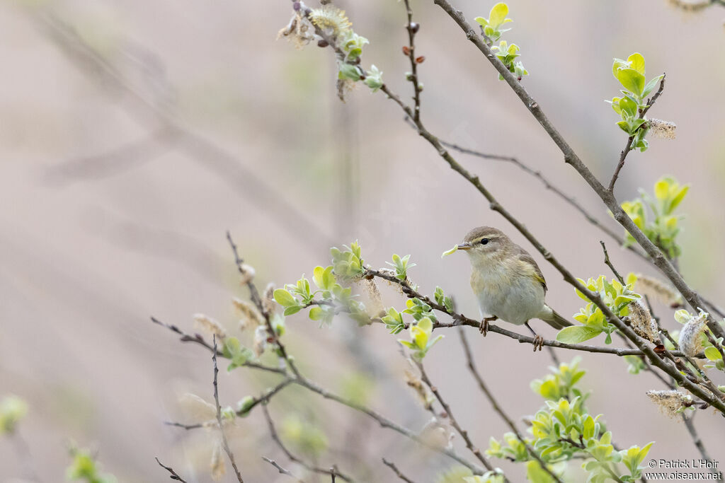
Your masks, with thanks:
[{"label": "upright yellow-green leaf cluster beside a catkin, upper right twig tip", "polygon": [[615,97],[610,102],[614,112],[619,114],[621,121],[617,125],[634,138],[631,149],[639,148],[645,151],[649,146],[645,136],[647,135],[647,118],[642,114],[642,109],[647,108],[645,98],[654,91],[656,85],[664,75],[653,77],[647,82],[645,77],[645,57],[635,52],[626,60],[614,59],[612,74],[622,85],[620,90],[622,97]]}]

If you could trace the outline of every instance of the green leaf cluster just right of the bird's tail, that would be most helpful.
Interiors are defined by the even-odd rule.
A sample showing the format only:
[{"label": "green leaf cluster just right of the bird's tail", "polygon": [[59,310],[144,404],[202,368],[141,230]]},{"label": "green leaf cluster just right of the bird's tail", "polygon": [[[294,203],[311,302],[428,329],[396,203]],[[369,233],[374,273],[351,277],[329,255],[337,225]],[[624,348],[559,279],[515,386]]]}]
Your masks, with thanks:
[{"label": "green leaf cluster just right of the bird's tail", "polygon": [[[642,298],[642,295],[634,293],[632,290],[634,282],[637,281],[637,277],[634,274],[628,275],[627,280],[625,280],[626,285],[622,285],[616,279],[608,281],[604,275],[600,275],[597,279],[590,278],[586,282],[581,279],[577,280],[592,292],[598,293],[602,301],[617,316],[626,316],[629,314],[629,309],[627,308],[629,303]],[[587,295],[579,292],[579,290],[576,290],[576,295],[579,295],[581,300],[587,302],[586,306],[580,308],[579,312],[573,315],[573,318],[581,322],[581,325],[561,329],[556,335],[556,340],[568,344],[578,344],[603,333],[606,335],[605,343],[612,343],[612,334],[616,332],[617,328],[607,322],[602,309],[590,301]]]}]

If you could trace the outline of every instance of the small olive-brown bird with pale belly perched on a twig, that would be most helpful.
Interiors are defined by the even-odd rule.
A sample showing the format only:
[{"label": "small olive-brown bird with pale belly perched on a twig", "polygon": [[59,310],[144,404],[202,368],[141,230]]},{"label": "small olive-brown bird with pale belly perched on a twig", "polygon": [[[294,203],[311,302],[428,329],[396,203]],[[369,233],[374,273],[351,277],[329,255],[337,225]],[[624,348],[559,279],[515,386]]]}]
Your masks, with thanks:
[{"label": "small olive-brown bird with pale belly perched on a twig", "polygon": [[541,319],[555,329],[572,325],[544,303],[546,280],[537,262],[501,230],[474,228],[455,248],[471,259],[471,288],[483,317],[482,334],[497,319],[524,324],[535,336],[534,350],[541,350],[544,339],[531,329],[530,319]]}]

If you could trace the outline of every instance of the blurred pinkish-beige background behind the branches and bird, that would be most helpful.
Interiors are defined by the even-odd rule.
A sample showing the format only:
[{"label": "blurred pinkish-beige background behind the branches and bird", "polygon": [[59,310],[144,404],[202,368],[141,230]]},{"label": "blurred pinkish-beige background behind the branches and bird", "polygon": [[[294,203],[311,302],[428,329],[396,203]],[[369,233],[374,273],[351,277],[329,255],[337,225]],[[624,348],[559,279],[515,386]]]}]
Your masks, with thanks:
[{"label": "blurred pinkish-beige background behind the branches and bird", "polygon": [[[486,16],[492,3],[455,1],[469,21]],[[370,40],[363,64],[376,64],[386,84],[409,100],[410,66],[400,53],[407,43],[403,4],[336,4]],[[618,94],[612,58],[639,51],[648,77],[666,72],[665,92],[650,116],[676,122],[677,138],[650,140],[645,154],[630,154],[616,194],[635,198],[637,188],[651,191],[661,175],[692,184],[680,210],[687,214],[682,272],[692,287],[724,303],[725,9],[685,13],[665,0],[509,4],[514,23],[506,38],[521,46],[531,72],[524,85],[601,180],[626,141],[603,101]],[[454,22],[432,2],[412,6],[421,23],[416,54],[426,56],[419,72],[428,129],[470,148],[517,156],[619,232]],[[154,456],[190,482],[210,481],[214,434],[163,424],[193,419],[178,404],[184,392],[213,401],[209,353],[179,343],[149,316],[194,332],[192,314],[202,312],[239,335],[231,297],[247,293],[226,230],[256,268],[260,287],[310,276],[328,264],[331,245],[357,239],[373,266],[384,266],[392,253],[410,253],[418,266],[409,274],[421,290],[444,287],[468,315],[478,311],[468,261],[442,260],[442,251],[472,227],[489,224],[534,252],[383,94],[360,86],[341,103],[329,49],[312,44],[298,51],[275,41],[290,17],[285,0],[0,3],[0,396],[28,401],[19,432],[41,481],[63,478],[71,441],[94,448],[120,481],[167,479]],[[500,161],[457,159],[572,272],[610,277],[598,243],[604,235],[536,179]],[[620,272],[656,275],[609,245]],[[534,258],[547,277],[550,305],[566,315],[578,311],[571,287]],[[384,299],[387,306],[404,305],[392,290]],[[665,327],[676,328],[668,308],[655,310]],[[534,327],[555,335],[541,322]],[[547,353],[468,332],[481,372],[510,415],[537,411],[542,401],[529,382],[547,373]],[[445,335],[426,358],[429,376],[486,448],[489,436],[500,438],[508,428],[465,370],[457,334]],[[383,327],[358,328],[344,317],[320,329],[305,314],[288,317],[285,336],[311,379],[418,431],[430,414],[405,385],[407,363],[396,339]],[[602,345],[603,338],[593,342]],[[581,385],[594,391],[590,411],[604,413],[619,445],[655,440],[651,458],[700,457],[684,424],[661,415],[645,396],[663,389],[657,379],[628,374],[616,357],[579,355],[588,371]],[[276,380],[247,369],[222,371],[221,403],[235,406]],[[309,457],[321,466],[337,463],[358,481],[394,481],[382,456],[418,481],[436,481],[455,467],[298,388],[284,390],[269,407],[288,437],[300,425],[317,428],[327,449]],[[695,418],[716,459],[725,444],[721,424],[710,411]],[[230,438],[245,481],[288,481],[262,456],[305,476],[270,439],[259,408],[237,422]],[[473,460],[460,437],[454,444]],[[2,481],[23,476],[27,461],[15,449],[0,439]],[[495,463],[523,477],[520,467]],[[223,481],[233,481],[231,469]]]}]

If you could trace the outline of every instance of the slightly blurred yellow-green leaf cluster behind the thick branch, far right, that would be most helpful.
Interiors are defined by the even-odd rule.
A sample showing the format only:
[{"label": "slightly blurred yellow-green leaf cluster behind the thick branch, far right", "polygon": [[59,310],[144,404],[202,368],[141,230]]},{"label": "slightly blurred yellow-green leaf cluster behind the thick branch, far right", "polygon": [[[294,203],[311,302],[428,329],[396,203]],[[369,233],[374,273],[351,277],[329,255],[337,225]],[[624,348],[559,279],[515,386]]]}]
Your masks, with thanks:
[{"label": "slightly blurred yellow-green leaf cluster behind the thick branch, far right", "polygon": [[[622,209],[632,222],[670,259],[675,259],[682,253],[676,243],[682,216],[676,216],[674,211],[682,203],[688,190],[689,185],[680,185],[674,177],[665,176],[655,182],[654,197],[645,190],[639,190],[639,198],[622,203]],[[652,217],[647,216],[645,206],[649,207]],[[625,245],[634,243],[636,241],[628,232]]]}]

